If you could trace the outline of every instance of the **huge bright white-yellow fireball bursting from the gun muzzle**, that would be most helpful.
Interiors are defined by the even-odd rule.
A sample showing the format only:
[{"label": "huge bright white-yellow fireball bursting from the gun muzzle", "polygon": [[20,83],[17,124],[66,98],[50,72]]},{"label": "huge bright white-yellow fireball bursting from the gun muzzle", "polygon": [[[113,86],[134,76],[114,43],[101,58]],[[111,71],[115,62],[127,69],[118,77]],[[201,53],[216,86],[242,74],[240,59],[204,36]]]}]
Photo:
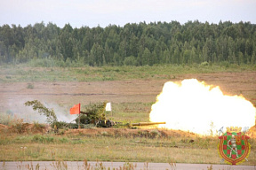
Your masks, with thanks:
[{"label": "huge bright white-yellow fireball bursting from the gun muzzle", "polygon": [[256,109],[243,96],[223,95],[220,88],[204,81],[168,81],[151,107],[150,121],[165,121],[160,128],[180,129],[209,135],[224,127],[249,127],[255,124]]}]

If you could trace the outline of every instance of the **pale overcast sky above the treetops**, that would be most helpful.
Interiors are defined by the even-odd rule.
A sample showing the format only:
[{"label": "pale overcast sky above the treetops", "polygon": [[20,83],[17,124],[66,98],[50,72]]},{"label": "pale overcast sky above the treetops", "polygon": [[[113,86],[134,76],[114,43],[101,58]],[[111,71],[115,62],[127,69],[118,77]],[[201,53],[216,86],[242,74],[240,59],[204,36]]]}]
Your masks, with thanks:
[{"label": "pale overcast sky above the treetops", "polygon": [[256,24],[256,0],[0,0],[0,26],[52,22],[58,27],[107,27],[188,20]]}]

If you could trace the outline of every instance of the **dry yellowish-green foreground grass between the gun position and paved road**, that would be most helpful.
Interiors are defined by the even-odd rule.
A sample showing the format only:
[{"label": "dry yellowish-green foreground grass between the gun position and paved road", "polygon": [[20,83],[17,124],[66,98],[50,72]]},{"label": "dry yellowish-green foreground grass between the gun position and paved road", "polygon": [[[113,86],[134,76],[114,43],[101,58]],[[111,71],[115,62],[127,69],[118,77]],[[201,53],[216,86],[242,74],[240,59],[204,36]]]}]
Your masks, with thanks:
[{"label": "dry yellowish-green foreground grass between the gun position and paved road", "polygon": [[[156,129],[150,130],[154,132]],[[118,130],[117,130],[118,131]],[[177,134],[138,135],[106,131],[95,135],[2,135],[0,160],[100,160],[124,162],[165,162],[218,164],[218,137]],[[161,132],[159,129],[158,132]],[[193,139],[194,143],[189,143]],[[249,162],[256,162],[255,139],[250,139]]]}]

